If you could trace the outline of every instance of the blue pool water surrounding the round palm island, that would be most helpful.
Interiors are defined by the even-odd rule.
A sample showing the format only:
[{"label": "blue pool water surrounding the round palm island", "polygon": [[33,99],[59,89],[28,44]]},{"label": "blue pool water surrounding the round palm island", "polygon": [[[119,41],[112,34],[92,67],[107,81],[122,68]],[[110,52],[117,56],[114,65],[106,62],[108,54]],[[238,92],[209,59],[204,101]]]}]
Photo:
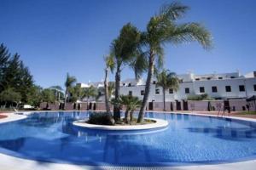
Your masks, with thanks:
[{"label": "blue pool water surrounding the round palm island", "polygon": [[256,158],[256,123],[210,116],[147,113],[166,129],[109,133],[74,127],[90,112],[34,113],[0,124],[0,152],[86,165],[172,166]]}]

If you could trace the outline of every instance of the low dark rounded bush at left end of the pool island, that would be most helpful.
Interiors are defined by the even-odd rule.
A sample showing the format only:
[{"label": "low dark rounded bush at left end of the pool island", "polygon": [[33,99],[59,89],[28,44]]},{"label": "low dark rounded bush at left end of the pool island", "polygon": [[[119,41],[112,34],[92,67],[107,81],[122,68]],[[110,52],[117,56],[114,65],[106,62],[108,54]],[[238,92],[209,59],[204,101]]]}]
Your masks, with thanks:
[{"label": "low dark rounded bush at left end of the pool island", "polygon": [[113,125],[113,122],[111,122],[110,117],[106,112],[91,113],[87,122],[96,125]]}]

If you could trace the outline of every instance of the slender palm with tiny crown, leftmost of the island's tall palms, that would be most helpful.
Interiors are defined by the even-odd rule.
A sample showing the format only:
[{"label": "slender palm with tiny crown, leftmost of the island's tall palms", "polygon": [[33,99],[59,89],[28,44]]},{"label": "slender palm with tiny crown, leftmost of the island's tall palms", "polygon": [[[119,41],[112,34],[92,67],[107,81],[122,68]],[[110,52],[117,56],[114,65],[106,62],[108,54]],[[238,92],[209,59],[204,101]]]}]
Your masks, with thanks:
[{"label": "slender palm with tiny crown, leftmost of the island's tall palms", "polygon": [[109,103],[108,72],[109,70],[113,72],[114,61],[113,61],[113,57],[109,55],[105,57],[104,60],[105,60],[105,80],[104,80],[105,106],[106,106],[107,113],[110,114],[111,111],[110,111],[110,103]]}]

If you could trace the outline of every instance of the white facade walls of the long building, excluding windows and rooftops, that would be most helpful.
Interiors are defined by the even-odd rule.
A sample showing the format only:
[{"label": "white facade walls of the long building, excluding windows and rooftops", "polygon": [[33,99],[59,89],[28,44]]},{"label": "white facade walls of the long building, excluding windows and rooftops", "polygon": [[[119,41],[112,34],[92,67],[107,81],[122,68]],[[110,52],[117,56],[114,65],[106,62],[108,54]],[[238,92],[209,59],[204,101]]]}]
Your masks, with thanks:
[{"label": "white facade walls of the long building, excluding windows and rooftops", "polygon": [[[212,98],[221,99],[235,99],[235,98],[246,98],[256,95],[253,85],[256,84],[256,78],[234,78],[234,79],[223,79],[223,80],[205,80],[195,82],[183,82],[180,83],[179,89],[174,94],[169,94],[169,90],[166,90],[166,101],[173,101],[175,99],[187,99],[189,95],[194,94],[208,94]],[[239,85],[245,85],[246,92],[240,92]],[[212,86],[216,86],[218,89],[217,93],[212,93]],[[226,92],[225,86],[231,87],[231,92]],[[200,87],[205,88],[205,93],[200,93]],[[132,91],[132,95],[137,96],[139,99],[143,99],[141,90],[144,90],[145,86],[131,86],[131,87],[120,87],[121,94],[129,94]],[[160,94],[155,94],[155,89],[160,89]],[[185,88],[189,88],[189,94],[185,94]],[[152,84],[148,101],[154,100],[155,102],[163,101],[162,88],[155,87]]]}]

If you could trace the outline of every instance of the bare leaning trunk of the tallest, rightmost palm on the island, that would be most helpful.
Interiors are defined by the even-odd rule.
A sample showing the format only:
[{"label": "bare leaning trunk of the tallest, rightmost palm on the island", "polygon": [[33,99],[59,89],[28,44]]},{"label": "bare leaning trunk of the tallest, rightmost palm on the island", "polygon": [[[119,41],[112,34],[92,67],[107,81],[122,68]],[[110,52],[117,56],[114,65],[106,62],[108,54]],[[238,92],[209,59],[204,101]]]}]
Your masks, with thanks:
[{"label": "bare leaning trunk of the tallest, rightmost palm on the island", "polygon": [[137,118],[137,122],[143,122],[143,119],[144,119],[144,114],[145,114],[146,105],[148,103],[148,96],[150,93],[150,85],[151,85],[153,73],[154,73],[154,54],[152,51],[150,51],[149,65],[148,65],[148,77],[147,77],[147,82],[146,82],[146,87],[145,87],[145,94],[143,97],[143,104],[141,106],[141,109],[140,109],[140,112],[139,112],[139,115]]}]

